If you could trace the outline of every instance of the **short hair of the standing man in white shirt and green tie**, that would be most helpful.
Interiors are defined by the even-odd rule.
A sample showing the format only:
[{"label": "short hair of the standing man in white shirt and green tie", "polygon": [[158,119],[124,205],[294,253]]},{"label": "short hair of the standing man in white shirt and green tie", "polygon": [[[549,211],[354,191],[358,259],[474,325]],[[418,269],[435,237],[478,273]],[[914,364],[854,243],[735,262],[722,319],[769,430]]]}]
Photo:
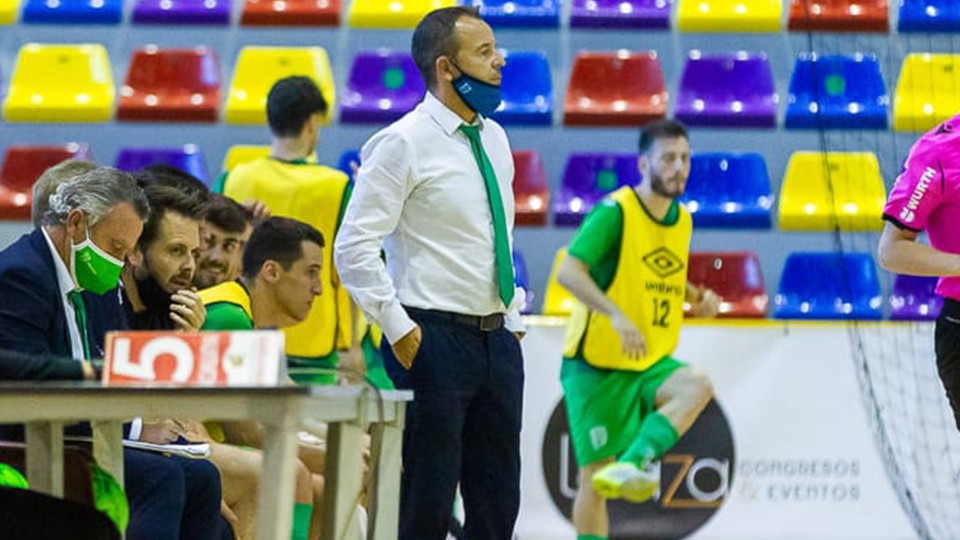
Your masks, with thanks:
[{"label": "short hair of the standing man in white shirt and green tie", "polygon": [[413,31],[410,52],[427,88],[433,88],[437,84],[437,58],[454,57],[460,51],[460,43],[454,30],[461,17],[480,19],[480,8],[454,6],[433,10],[427,13]]}]

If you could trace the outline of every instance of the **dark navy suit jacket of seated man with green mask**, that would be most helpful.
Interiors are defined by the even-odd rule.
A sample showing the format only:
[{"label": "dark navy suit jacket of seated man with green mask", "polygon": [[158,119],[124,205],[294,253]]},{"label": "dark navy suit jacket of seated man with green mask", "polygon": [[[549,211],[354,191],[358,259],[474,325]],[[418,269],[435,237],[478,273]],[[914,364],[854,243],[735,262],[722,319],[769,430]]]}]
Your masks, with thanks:
[{"label": "dark navy suit jacket of seated man with green mask", "polygon": [[[126,328],[118,291],[103,296],[84,292],[83,297],[90,353],[102,358],[105,333]],[[4,350],[50,357],[51,362],[71,357],[61,298],[53,254],[41,231],[0,252],[0,362]]]}]

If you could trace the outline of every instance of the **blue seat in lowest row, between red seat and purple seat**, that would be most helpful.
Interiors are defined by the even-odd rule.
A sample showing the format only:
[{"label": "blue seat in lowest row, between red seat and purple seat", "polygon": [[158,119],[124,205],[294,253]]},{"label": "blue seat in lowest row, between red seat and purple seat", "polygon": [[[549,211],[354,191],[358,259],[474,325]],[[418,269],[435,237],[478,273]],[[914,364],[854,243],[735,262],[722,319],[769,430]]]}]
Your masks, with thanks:
[{"label": "blue seat in lowest row, between red seat and purple seat", "polygon": [[774,297],[777,319],[881,317],[880,282],[868,253],[791,253]]}]

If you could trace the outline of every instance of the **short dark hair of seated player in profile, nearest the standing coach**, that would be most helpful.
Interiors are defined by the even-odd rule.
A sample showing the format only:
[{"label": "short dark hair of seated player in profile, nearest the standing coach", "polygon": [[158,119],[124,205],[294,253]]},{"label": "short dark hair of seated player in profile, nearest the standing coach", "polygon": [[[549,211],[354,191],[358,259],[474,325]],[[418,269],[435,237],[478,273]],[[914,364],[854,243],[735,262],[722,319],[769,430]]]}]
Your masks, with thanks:
[{"label": "short dark hair of seated player in profile, nearest the standing coach", "polygon": [[257,225],[243,250],[243,277],[254,279],[267,261],[276,261],[289,270],[303,258],[303,242],[323,248],[323,233],[290,218],[272,217]]}]

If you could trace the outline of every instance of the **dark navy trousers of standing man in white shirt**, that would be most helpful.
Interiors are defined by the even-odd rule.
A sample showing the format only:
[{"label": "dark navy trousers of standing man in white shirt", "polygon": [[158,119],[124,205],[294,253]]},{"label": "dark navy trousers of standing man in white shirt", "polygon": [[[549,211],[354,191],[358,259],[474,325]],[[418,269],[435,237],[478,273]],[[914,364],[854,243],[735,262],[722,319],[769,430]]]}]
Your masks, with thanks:
[{"label": "dark navy trousers of standing man in white shirt", "polygon": [[409,371],[382,344],[394,384],[415,392],[403,433],[400,540],[446,538],[458,482],[465,538],[510,540],[520,509],[520,343],[503,328],[411,316],[423,338]]}]

